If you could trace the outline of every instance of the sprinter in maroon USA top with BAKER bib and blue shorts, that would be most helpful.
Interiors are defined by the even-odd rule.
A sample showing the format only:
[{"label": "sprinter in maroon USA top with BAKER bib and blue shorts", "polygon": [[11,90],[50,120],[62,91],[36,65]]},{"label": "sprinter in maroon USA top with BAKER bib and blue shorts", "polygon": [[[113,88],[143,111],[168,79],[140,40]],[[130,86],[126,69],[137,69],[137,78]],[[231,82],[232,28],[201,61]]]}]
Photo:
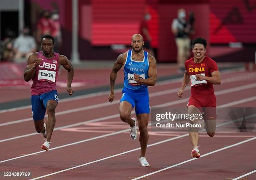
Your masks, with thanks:
[{"label": "sprinter in maroon USA top with BAKER bib and blue shorts", "polygon": [[[31,87],[32,117],[36,132],[42,133],[46,138],[41,148],[48,151],[51,134],[55,125],[55,108],[59,101],[56,91],[59,66],[62,65],[68,71],[67,91],[70,96],[74,92],[71,89],[74,69],[66,56],[54,53],[53,37],[44,35],[41,39],[41,47],[42,51],[32,53],[28,57],[28,66],[24,72],[24,80],[33,80]],[[46,110],[48,119],[44,123]]]}]

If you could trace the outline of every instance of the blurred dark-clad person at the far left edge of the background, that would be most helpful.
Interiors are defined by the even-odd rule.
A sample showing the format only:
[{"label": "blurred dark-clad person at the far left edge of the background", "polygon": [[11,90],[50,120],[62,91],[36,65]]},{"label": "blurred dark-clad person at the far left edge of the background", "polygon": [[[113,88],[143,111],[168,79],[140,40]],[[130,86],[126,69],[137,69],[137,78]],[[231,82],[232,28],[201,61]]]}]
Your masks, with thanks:
[{"label": "blurred dark-clad person at the far left edge of the background", "polygon": [[13,60],[13,41],[14,33],[12,30],[7,29],[4,41],[1,44],[2,61]]}]

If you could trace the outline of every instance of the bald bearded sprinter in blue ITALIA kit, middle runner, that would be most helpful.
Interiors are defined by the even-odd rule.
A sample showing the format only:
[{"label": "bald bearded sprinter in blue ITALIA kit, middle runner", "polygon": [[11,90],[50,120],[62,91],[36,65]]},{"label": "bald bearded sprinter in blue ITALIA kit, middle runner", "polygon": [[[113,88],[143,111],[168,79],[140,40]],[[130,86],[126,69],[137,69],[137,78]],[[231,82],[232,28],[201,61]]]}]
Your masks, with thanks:
[{"label": "bald bearded sprinter in blue ITALIA kit, middle runner", "polygon": [[[117,72],[124,66],[124,87],[120,100],[120,119],[130,125],[131,139],[136,140],[136,120],[140,130],[141,155],[139,161],[142,167],[149,167],[146,160],[146,147],[148,144],[149,96],[148,86],[156,84],[156,59],[143,51],[143,37],[140,34],[132,36],[132,50],[120,54],[114,63],[110,74],[110,94],[108,99],[113,101],[115,79]],[[136,117],[131,118],[131,111],[135,106]]]}]

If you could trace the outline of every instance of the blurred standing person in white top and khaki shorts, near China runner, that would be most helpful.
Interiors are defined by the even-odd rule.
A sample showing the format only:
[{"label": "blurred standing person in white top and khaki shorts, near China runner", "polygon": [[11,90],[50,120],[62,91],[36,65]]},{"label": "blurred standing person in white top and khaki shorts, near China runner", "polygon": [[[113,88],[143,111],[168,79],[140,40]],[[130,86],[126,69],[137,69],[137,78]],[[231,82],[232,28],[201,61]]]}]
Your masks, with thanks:
[{"label": "blurred standing person in white top and khaki shorts, near China runner", "polygon": [[172,32],[174,33],[175,43],[177,46],[177,65],[178,72],[184,72],[184,62],[190,55],[190,39],[189,39],[189,24],[186,20],[186,11],[178,10],[178,18],[172,21]]}]

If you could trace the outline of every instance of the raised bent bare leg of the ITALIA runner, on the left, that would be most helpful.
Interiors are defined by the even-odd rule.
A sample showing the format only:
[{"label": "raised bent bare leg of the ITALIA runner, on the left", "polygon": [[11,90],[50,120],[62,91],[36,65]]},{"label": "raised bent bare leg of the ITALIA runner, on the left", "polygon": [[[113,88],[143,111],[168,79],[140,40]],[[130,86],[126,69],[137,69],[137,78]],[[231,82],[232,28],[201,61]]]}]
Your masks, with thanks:
[{"label": "raised bent bare leg of the ITALIA runner, on the left", "polygon": [[119,105],[119,114],[120,119],[123,122],[126,122],[130,125],[130,127],[133,127],[135,125],[134,121],[131,119],[131,110],[133,106],[128,101],[122,101]]}]

